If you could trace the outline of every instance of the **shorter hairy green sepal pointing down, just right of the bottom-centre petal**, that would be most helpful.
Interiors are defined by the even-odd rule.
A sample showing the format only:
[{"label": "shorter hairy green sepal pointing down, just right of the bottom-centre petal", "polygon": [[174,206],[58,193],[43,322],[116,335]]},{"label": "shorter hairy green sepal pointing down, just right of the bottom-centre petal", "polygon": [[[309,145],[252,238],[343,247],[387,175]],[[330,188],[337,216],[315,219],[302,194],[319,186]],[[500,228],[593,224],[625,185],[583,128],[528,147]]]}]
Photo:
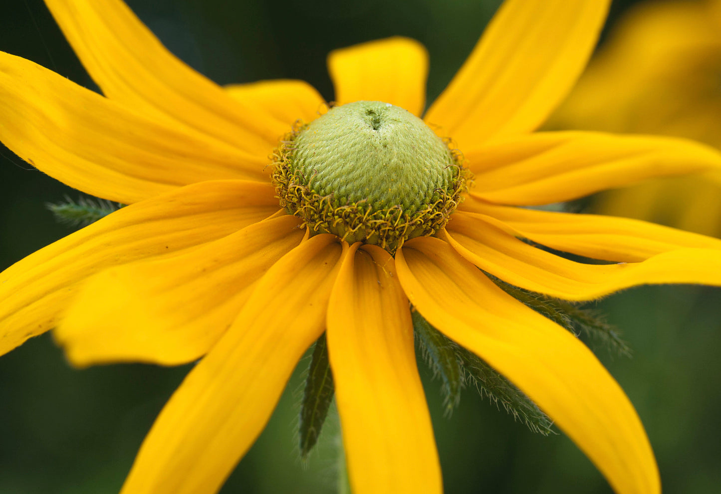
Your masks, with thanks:
[{"label": "shorter hairy green sepal pointing down, just right of the bottom-centre petal", "polygon": [[456,354],[458,345],[435,330],[415,309],[411,315],[423,358],[433,371],[433,376],[440,376],[443,381],[443,405],[446,406],[446,414],[450,415],[461,400],[463,388],[463,369]]}]

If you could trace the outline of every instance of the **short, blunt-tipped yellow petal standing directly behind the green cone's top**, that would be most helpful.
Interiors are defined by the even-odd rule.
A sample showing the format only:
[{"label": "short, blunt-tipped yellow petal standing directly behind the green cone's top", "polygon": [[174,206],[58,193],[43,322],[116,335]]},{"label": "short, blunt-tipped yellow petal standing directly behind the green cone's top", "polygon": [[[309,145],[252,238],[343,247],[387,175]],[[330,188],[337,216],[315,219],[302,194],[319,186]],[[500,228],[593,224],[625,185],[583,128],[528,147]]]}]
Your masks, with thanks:
[{"label": "short, blunt-tipped yellow petal standing directly behind the green cone's top", "polygon": [[423,113],[428,52],[415,40],[387,38],[332,51],[328,71],[338,105],[382,101]]}]

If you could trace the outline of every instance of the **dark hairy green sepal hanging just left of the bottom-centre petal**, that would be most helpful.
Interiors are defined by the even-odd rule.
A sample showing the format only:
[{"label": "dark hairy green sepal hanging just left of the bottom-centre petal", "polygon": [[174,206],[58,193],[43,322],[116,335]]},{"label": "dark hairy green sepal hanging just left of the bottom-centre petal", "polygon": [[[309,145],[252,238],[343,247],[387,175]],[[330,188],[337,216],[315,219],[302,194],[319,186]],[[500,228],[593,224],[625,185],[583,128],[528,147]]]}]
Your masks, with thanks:
[{"label": "dark hairy green sepal hanging just left of the bottom-centre petal", "polygon": [[301,458],[306,459],[318,441],[328,408],[333,401],[335,386],[330,371],[325,333],[315,343],[311,364],[306,377],[306,387],[301,402],[301,417],[298,435]]}]

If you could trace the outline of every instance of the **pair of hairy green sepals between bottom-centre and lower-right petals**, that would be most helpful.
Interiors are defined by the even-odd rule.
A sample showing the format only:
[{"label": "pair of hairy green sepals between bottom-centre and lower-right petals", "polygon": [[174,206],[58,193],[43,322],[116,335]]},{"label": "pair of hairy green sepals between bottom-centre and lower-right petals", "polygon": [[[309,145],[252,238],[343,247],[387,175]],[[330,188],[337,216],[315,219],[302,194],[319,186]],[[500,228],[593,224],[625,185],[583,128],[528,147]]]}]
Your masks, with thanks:
[{"label": "pair of hairy green sepals between bottom-centre and lower-right petals", "polygon": [[413,326],[430,369],[441,376],[446,413],[459,402],[460,392],[466,384],[473,384],[482,396],[492,403],[503,405],[514,418],[525,423],[531,431],[547,435],[551,420],[541,412],[520,389],[498,374],[482,358],[441,334],[423,316],[413,311]]}]

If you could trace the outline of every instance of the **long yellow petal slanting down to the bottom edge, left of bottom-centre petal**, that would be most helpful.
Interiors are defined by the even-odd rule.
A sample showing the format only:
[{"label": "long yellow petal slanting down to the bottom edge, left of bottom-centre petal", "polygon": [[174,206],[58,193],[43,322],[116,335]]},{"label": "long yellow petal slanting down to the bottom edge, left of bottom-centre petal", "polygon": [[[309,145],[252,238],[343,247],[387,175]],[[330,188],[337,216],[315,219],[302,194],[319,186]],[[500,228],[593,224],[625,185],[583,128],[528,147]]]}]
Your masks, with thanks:
[{"label": "long yellow petal slanting down to the bottom edge, left of bottom-centre petal", "polygon": [[337,237],[317,235],[268,270],[165,405],[123,494],[218,492],[265,427],[298,359],[325,329],[340,257]]}]

